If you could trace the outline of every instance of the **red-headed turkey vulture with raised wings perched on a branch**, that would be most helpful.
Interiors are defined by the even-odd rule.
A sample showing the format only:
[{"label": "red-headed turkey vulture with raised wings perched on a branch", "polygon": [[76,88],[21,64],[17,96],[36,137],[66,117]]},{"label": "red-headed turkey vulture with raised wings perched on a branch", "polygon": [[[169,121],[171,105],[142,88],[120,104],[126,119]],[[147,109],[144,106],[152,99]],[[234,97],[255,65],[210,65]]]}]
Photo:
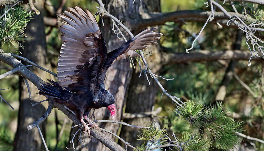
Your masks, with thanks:
[{"label": "red-headed turkey vulture with raised wings perched on a branch", "polygon": [[38,94],[51,97],[75,111],[89,133],[91,127],[86,125],[83,116],[93,127],[95,123],[87,117],[92,108],[107,107],[112,118],[115,116],[114,96],[105,90],[104,85],[107,69],[116,60],[140,57],[136,50],[145,50],[148,48],[146,45],[157,44],[155,41],[162,34],[152,32],[155,28],[144,30],[118,49],[107,53],[93,14],[79,6],[68,9],[63,14],[57,14],[65,21],[60,26],[63,43],[57,66],[58,82],[48,80],[40,86]]}]

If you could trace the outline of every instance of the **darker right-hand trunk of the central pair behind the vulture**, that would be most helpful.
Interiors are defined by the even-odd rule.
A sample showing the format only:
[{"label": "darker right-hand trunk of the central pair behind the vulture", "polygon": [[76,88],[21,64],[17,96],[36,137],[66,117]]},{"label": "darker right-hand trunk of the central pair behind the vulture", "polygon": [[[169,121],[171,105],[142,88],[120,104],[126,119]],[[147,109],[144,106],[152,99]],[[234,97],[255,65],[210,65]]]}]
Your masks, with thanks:
[{"label": "darker right-hand trunk of the central pair behind the vulture", "polygon": [[[131,4],[133,5],[133,4]],[[154,13],[154,12],[160,12],[160,1],[159,0],[144,0],[144,1],[138,1],[138,3],[135,2],[134,4],[134,12],[140,15],[143,19],[147,19],[149,16],[146,15],[145,12],[148,13]],[[138,18],[137,18],[138,19]],[[134,26],[135,27],[135,26]],[[143,30],[138,28],[139,31]],[[156,29],[158,32],[158,29]],[[151,56],[146,56],[146,60],[148,61],[148,65],[151,68],[153,73],[159,74],[159,70],[162,68],[162,56],[159,52],[158,46],[152,45],[149,49],[147,49],[147,52],[151,52]],[[142,68],[144,68],[144,65],[142,65]],[[152,110],[152,107],[155,103],[155,98],[157,96],[158,92],[158,86],[157,83],[154,81],[153,78],[151,78],[150,75],[149,81],[150,85],[145,77],[144,74],[139,78],[140,69],[139,66],[136,66],[136,70],[133,70],[133,74],[131,76],[131,82],[129,85],[128,90],[128,96],[125,106],[125,112],[126,113],[139,113],[139,112],[150,112]],[[132,118],[132,119],[124,119],[124,122],[132,125],[145,125],[146,121],[152,121],[153,119],[150,117],[144,117],[144,118]],[[134,127],[128,127],[128,126],[122,126],[120,137],[129,142],[131,145],[136,146],[137,144],[140,144],[140,141],[137,141],[137,135],[139,134],[138,129]],[[123,147],[125,147],[125,144],[119,141],[119,144]],[[131,148],[128,148],[128,150],[132,150]]]}]

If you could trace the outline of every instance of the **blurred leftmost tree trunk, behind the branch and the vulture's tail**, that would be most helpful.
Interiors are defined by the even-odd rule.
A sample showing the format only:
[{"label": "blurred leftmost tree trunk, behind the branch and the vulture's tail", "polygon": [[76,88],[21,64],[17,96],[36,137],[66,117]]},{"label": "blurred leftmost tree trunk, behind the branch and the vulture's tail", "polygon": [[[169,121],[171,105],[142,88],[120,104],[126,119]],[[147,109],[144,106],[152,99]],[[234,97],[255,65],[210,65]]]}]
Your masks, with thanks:
[{"label": "blurred leftmost tree trunk, behind the branch and the vulture's tail", "polygon": [[[35,7],[38,10],[42,10],[43,1],[37,0],[34,3]],[[28,58],[30,61],[46,68],[49,70],[50,64],[46,58],[46,41],[44,33],[44,23],[43,23],[43,13],[40,15],[34,15],[34,19],[30,21],[30,24],[27,25],[25,34],[27,37],[32,38],[32,40],[26,40],[23,44],[25,48],[21,50],[21,56]],[[23,64],[28,65],[28,63],[23,62]],[[32,66],[29,69],[34,72],[41,79],[50,79],[51,76],[47,72],[40,70],[39,68]],[[31,106],[31,103],[36,103],[41,100],[46,99],[43,96],[36,94],[38,90],[36,86],[29,82],[32,100],[29,99],[29,93],[27,86],[22,77],[20,77],[20,106],[18,112],[18,126],[17,132],[14,140],[14,151],[42,151],[44,150],[44,145],[41,140],[39,131],[37,128],[32,130],[27,130],[27,126],[32,122],[37,120],[43,115],[46,111],[43,104],[37,104],[35,107]],[[46,121],[42,122],[39,127],[42,131],[42,134],[45,136],[45,125]]]}]

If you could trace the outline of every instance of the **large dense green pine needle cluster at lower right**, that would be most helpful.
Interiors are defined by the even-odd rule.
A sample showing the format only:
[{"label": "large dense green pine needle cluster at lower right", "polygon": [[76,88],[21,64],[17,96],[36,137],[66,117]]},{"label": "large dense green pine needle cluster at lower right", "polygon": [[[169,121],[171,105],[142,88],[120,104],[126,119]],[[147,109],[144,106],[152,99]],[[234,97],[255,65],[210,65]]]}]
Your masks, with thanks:
[{"label": "large dense green pine needle cluster at lower right", "polygon": [[218,148],[229,150],[240,145],[241,138],[235,132],[242,132],[242,122],[229,117],[227,111],[223,111],[222,102],[204,108],[189,100],[183,108],[177,107],[175,112],[189,121],[194,128],[203,129],[207,136],[215,140]]}]

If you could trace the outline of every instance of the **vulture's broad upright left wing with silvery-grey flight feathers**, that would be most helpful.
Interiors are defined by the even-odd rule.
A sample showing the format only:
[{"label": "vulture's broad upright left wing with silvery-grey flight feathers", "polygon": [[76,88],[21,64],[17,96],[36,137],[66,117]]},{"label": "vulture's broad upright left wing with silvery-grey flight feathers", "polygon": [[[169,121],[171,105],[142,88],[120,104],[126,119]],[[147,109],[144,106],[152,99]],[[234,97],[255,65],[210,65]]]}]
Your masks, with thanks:
[{"label": "vulture's broad upright left wing with silvery-grey flight feathers", "polygon": [[58,14],[65,25],[60,26],[63,43],[57,66],[57,80],[60,86],[78,91],[88,88],[88,85],[95,86],[106,60],[107,49],[93,14],[87,9],[85,12],[79,6],[68,9],[69,11]]}]

